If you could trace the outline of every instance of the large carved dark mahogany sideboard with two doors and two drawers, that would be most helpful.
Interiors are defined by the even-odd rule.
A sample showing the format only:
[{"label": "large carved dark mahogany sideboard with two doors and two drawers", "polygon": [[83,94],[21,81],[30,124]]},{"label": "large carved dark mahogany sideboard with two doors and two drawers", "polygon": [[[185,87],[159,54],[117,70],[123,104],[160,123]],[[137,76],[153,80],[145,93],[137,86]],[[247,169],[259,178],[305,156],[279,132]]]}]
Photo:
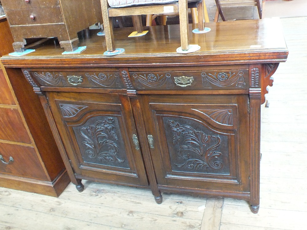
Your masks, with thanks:
[{"label": "large carved dark mahogany sideboard with two doors and two drawers", "polygon": [[[190,25],[191,26],[191,25]],[[177,54],[179,25],[115,30],[62,56],[53,43],[2,57],[39,95],[71,180],[244,199],[259,208],[260,105],[288,51],[278,19],[208,23],[201,49]],[[191,30],[192,28],[190,28]],[[17,71],[16,70],[16,71]]]}]

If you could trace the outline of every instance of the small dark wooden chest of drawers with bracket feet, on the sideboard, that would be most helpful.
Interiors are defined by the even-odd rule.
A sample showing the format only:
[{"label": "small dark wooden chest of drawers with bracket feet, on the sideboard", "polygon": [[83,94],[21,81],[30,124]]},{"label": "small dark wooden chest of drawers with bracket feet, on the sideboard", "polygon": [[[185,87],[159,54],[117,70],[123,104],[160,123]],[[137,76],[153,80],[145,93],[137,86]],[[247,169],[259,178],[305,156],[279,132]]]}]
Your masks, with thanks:
[{"label": "small dark wooden chest of drawers with bracket feet, on the sideboard", "polygon": [[57,37],[65,51],[78,48],[77,33],[101,22],[99,0],[2,0],[13,34],[15,52],[26,38]]}]

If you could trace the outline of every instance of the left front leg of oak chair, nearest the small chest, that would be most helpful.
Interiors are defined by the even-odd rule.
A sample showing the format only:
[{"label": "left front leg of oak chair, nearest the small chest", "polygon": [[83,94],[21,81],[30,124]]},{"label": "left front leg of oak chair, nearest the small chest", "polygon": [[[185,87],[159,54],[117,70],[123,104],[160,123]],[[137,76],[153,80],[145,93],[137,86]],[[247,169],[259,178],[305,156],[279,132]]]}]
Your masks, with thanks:
[{"label": "left front leg of oak chair, nearest the small chest", "polygon": [[107,50],[114,51],[115,45],[114,45],[114,39],[113,39],[114,37],[113,25],[112,25],[112,20],[110,20],[109,15],[108,15],[107,0],[100,0],[100,2],[101,2],[104,32],[106,33],[105,38],[106,38]]}]

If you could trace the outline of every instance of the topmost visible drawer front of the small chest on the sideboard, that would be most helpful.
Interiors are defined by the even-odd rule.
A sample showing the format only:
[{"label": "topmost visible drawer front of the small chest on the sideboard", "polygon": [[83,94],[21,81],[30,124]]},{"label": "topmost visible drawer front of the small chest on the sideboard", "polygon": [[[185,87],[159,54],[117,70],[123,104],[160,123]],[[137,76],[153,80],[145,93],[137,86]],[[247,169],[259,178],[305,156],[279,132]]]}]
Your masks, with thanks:
[{"label": "topmost visible drawer front of the small chest on the sideboard", "polygon": [[59,0],[2,0],[1,1],[5,9],[7,10],[17,10],[17,9],[29,9],[29,8],[42,8],[42,7],[51,7],[59,6]]}]

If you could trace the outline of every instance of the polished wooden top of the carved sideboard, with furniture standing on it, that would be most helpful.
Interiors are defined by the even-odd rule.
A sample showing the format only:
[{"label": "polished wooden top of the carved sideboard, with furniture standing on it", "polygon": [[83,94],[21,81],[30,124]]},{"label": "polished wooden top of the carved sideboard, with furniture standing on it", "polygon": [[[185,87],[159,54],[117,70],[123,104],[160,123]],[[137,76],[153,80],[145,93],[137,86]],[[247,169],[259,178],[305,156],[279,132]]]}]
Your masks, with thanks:
[{"label": "polished wooden top of the carved sideboard, with furniture standing on it", "polygon": [[[278,18],[262,20],[226,21],[206,23],[208,33],[194,34],[190,24],[190,44],[200,45],[200,50],[178,54],[180,46],[179,25],[147,27],[148,34],[128,38],[133,27],[115,28],[115,46],[125,52],[116,56],[104,56],[107,50],[104,36],[91,30],[89,38],[80,39],[79,46],[87,48],[80,54],[62,55],[64,51],[49,40],[36,51],[25,56],[3,56],[6,67],[84,67],[84,66],[146,66],[212,65],[235,63],[272,63],[286,61],[288,50]],[[192,28],[193,27],[193,28]],[[35,59],[35,61],[33,61]]]}]

